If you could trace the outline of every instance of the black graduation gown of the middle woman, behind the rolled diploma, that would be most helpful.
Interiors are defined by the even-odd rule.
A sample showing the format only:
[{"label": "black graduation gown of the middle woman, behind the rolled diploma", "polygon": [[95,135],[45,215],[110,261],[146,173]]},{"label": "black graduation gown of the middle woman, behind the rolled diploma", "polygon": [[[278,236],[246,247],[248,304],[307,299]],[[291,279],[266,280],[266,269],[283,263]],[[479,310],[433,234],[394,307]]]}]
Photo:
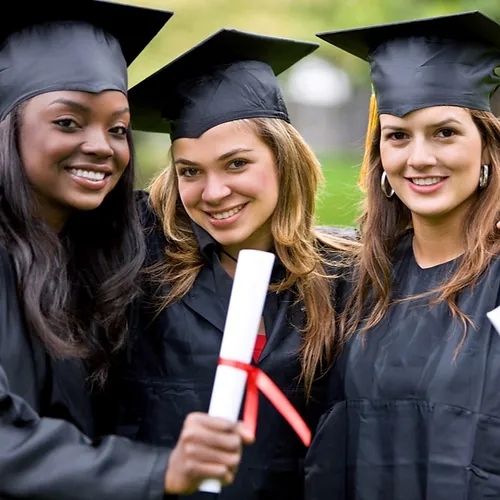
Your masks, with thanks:
[{"label": "black graduation gown of the middle woman, behind the rolled diploma", "polygon": [[[163,260],[165,240],[158,221],[143,200],[149,263]],[[232,280],[222,269],[218,245],[194,225],[205,265],[192,289],[157,317],[143,298],[138,309],[137,338],[128,353],[118,387],[118,434],[146,443],[173,446],[186,415],[208,411],[217,368]],[[282,272],[277,265],[274,279]],[[163,290],[164,292],[164,290]],[[153,292],[146,288],[146,295]],[[264,309],[267,343],[258,361],[314,428],[320,414],[320,386],[306,405],[299,385],[298,350],[300,307],[292,306],[291,292],[269,294]],[[305,447],[289,424],[265,399],[260,398],[256,442],[244,449],[233,485],[224,488],[222,500],[303,498]],[[206,498],[196,493],[189,498]]]}]

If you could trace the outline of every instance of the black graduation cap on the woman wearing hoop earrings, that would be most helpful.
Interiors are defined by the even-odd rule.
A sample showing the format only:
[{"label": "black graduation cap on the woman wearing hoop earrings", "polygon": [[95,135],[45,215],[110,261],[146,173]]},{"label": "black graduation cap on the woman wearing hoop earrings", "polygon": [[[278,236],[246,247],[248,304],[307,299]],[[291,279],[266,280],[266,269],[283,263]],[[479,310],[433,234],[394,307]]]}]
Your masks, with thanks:
[{"label": "black graduation cap on the woman wearing hoop earrings", "polygon": [[379,114],[440,105],[490,111],[500,86],[500,24],[478,11],[317,36],[370,63]]}]

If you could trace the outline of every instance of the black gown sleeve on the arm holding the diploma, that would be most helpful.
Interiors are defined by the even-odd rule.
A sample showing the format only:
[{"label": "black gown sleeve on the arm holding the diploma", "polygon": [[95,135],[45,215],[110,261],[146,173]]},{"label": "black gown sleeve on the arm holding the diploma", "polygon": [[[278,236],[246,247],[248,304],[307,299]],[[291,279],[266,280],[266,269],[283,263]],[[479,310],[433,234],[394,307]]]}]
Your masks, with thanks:
[{"label": "black gown sleeve on the arm holding the diploma", "polygon": [[21,338],[20,317],[12,264],[0,249],[0,340],[9,336],[0,342],[0,498],[161,500],[170,450],[116,436],[91,441],[65,420],[40,417],[12,391],[1,360],[12,366],[12,356],[30,356],[12,340]]}]

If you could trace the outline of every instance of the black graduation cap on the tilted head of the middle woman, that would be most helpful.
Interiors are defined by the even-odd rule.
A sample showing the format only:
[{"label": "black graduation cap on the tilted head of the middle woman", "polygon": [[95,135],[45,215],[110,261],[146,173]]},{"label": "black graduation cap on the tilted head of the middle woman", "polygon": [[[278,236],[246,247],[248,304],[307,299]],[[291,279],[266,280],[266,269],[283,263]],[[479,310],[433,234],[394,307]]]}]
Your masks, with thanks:
[{"label": "black graduation cap on the tilted head of the middle woman", "polygon": [[243,118],[289,121],[276,76],[318,46],[223,28],[130,89],[133,127],[175,140]]}]

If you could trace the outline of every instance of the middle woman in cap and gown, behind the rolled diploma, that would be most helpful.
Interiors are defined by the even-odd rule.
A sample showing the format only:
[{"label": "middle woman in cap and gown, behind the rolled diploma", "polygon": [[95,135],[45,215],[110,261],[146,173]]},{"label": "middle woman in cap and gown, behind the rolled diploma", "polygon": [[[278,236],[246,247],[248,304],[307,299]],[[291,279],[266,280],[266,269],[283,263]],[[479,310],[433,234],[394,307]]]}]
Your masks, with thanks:
[{"label": "middle woman in cap and gown, behind the rolled diploma", "polygon": [[[208,409],[247,248],[277,260],[254,363],[314,428],[314,381],[334,342],[332,262],[349,244],[314,229],[321,169],[275,75],[316,47],[223,29],[131,89],[132,105],[151,109],[135,126],[169,132],[172,148],[144,198],[152,274],[120,383],[119,433],[168,446],[187,413]],[[305,447],[267,400],[259,408],[255,444],[220,498],[300,499]]]}]

